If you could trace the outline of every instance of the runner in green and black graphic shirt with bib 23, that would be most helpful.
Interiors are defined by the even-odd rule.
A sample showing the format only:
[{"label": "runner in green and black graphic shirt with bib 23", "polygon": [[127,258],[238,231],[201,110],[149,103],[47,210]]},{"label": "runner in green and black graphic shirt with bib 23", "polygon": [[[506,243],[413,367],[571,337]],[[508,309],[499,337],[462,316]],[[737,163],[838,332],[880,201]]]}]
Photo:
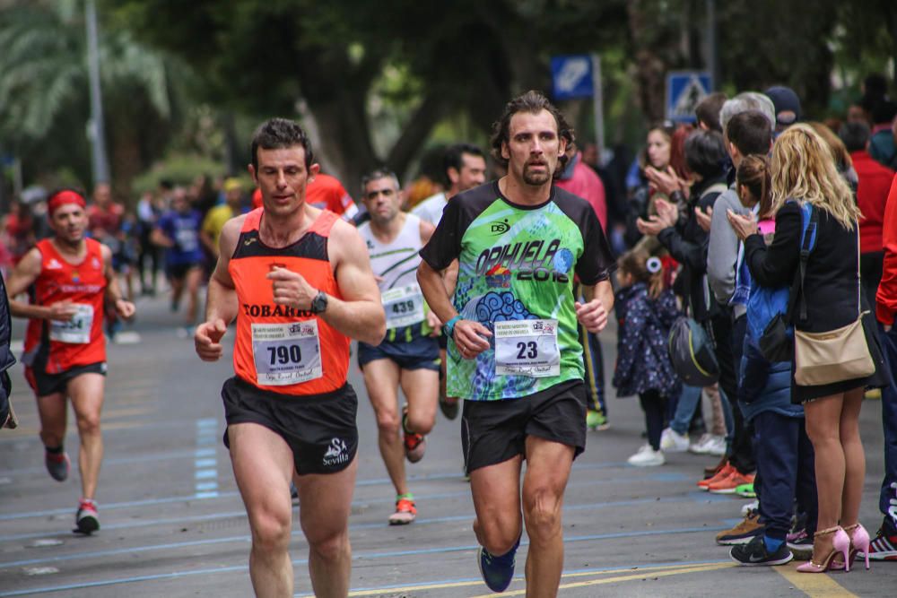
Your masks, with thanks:
[{"label": "runner in green and black graphic shirt with bib 23", "polygon": [[[563,168],[562,132],[572,138],[541,94],[511,100],[492,137],[508,175],[448,203],[418,269],[427,303],[446,322],[448,394],[466,399],[461,440],[483,580],[494,591],[510,584],[522,518],[527,594],[540,596],[560,583],[563,492],[586,444],[577,325],[600,332],[614,301],[614,260],[595,212],[552,185]],[[455,259],[449,298],[441,272]],[[574,276],[584,303],[574,298]]]}]

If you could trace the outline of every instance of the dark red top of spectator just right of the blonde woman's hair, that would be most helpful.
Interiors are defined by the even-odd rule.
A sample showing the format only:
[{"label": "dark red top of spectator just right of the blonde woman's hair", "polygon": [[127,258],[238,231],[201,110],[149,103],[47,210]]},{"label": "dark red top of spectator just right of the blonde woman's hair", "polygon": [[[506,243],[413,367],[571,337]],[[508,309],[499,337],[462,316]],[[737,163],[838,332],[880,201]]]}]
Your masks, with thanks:
[{"label": "dark red top of spectator just right of the blonde woman's hair", "polygon": [[881,251],[884,203],[894,178],[893,170],[884,168],[865,150],[852,152],[850,159],[859,178],[857,204],[863,212],[863,219],[859,221],[859,252]]}]

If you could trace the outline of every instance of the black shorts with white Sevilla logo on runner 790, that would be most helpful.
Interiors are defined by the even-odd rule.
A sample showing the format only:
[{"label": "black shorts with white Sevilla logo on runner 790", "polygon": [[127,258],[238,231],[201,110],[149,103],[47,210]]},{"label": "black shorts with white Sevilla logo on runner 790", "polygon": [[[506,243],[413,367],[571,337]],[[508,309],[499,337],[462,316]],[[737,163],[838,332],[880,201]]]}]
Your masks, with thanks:
[{"label": "black shorts with white Sevilla logo on runner 790", "polygon": [[[355,458],[358,398],[348,383],[332,393],[294,396],[232,377],[222,387],[222,399],[228,426],[257,423],[283,438],[299,475],[341,472]],[[224,446],[231,448],[227,429]]]}]

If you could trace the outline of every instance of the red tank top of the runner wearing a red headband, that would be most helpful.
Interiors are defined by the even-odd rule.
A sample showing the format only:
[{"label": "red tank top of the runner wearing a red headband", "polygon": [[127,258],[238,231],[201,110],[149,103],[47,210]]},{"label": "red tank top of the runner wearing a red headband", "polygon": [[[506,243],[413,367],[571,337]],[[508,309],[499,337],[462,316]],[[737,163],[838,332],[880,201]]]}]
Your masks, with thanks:
[{"label": "red tank top of the runner wearing a red headband", "polygon": [[71,301],[77,312],[68,322],[30,319],[25,332],[25,365],[48,374],[106,360],[103,299],[106,274],[100,243],[85,238],[87,253],[80,264],[69,264],[49,239],[38,241],[40,274],[30,289],[31,302],[48,306]]}]

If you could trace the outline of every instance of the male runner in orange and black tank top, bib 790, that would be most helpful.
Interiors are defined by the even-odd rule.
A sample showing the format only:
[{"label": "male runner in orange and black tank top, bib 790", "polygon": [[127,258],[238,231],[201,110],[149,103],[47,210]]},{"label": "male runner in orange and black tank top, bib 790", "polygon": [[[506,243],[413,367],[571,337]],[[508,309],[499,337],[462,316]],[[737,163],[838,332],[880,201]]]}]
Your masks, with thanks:
[{"label": "male runner in orange and black tank top, bib 790", "polygon": [[293,479],[315,594],[345,596],[358,447],[349,339],[378,344],[386,317],[358,232],[305,203],[318,172],[305,132],[273,118],[258,127],[251,155],[263,207],[224,225],[196,353],[220,359],[237,319],[224,441],[252,529],[256,594],[292,596]]}]

